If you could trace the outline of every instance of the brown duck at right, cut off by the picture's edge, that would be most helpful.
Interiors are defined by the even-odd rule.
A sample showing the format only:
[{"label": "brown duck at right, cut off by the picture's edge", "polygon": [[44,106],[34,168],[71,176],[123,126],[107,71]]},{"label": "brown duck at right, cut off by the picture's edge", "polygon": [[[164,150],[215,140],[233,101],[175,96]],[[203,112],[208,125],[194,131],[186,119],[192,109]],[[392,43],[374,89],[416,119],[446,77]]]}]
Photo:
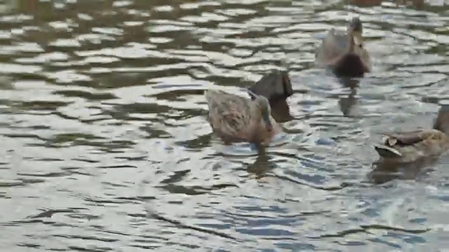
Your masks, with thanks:
[{"label": "brown duck at right, cut off by the picture's edge", "polygon": [[449,106],[441,106],[431,129],[384,135],[384,142],[374,146],[381,160],[406,163],[439,157],[449,150]]}]

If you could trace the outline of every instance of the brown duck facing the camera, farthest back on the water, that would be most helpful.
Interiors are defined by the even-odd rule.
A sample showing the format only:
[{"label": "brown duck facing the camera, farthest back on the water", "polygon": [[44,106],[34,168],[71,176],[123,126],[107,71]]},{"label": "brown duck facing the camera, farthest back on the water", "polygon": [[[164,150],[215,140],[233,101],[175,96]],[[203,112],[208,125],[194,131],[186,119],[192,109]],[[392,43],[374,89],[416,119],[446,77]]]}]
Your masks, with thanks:
[{"label": "brown duck facing the camera, farthest back on the water", "polygon": [[347,31],[330,29],[316,50],[316,63],[330,67],[340,76],[363,76],[371,69],[370,55],[362,37],[359,18],[352,18]]}]

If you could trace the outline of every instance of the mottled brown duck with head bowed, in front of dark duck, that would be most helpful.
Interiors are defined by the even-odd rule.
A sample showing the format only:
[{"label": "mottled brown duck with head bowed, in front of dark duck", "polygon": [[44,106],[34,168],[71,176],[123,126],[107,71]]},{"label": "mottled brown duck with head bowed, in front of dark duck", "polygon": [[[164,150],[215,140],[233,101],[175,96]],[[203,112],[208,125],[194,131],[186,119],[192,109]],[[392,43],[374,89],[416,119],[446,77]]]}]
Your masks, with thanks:
[{"label": "mottled brown duck with head bowed, in front of dark duck", "polygon": [[248,93],[253,100],[221,90],[206,90],[208,121],[213,131],[227,144],[248,141],[267,145],[280,132],[280,127],[271,116],[267,98],[250,90]]}]

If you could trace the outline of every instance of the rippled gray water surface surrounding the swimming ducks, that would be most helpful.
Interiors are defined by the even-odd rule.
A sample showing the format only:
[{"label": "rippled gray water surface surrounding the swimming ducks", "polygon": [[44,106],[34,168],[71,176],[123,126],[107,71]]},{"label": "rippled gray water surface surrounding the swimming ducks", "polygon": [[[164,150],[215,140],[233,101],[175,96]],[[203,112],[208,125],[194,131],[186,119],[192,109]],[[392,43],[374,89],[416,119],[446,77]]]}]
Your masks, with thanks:
[{"label": "rippled gray water surface surrounding the swimming ducks", "polygon": [[[371,147],[429,127],[448,99],[449,8],[6,2],[1,251],[449,249],[449,158],[373,172]],[[374,69],[350,90],[313,63],[320,34],[354,15]],[[285,141],[261,155],[222,146],[202,90],[246,95],[283,59]]]}]

